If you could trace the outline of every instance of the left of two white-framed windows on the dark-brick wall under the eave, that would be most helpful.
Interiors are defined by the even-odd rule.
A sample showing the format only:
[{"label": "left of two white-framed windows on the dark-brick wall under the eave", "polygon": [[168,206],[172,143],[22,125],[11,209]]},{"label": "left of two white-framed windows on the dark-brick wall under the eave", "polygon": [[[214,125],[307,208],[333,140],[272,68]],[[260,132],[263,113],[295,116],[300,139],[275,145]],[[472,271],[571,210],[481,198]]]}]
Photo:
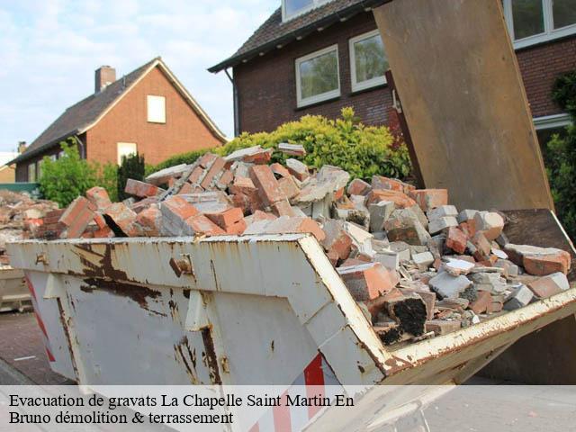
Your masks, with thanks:
[{"label": "left of two white-framed windows on the dark-brick wall under the eave", "polygon": [[340,95],[338,45],[296,59],[296,94],[299,107]]}]

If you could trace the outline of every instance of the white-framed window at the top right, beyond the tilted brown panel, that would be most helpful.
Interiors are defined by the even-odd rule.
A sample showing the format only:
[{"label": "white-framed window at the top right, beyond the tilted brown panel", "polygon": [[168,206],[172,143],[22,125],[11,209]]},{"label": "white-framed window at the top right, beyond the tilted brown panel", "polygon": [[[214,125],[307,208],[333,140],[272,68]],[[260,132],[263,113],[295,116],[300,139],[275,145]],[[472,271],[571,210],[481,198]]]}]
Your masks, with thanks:
[{"label": "white-framed window at the top right, beyond the tilted brown panel", "polygon": [[504,0],[515,48],[576,33],[576,0]]}]

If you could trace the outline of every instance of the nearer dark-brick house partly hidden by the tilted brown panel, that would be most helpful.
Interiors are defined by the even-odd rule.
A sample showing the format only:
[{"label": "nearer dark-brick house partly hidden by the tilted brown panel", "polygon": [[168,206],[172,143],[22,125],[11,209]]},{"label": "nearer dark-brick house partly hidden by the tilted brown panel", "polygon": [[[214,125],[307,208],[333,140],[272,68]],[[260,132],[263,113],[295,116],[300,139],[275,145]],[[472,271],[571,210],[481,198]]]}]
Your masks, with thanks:
[{"label": "nearer dark-brick house partly hidden by the tilted brown panel", "polygon": [[[385,47],[372,9],[383,0],[279,0],[280,7],[230,58],[235,133],[274,130],[304,114],[335,117],[353,106],[367,124],[391,122]],[[503,0],[534,115],[544,137],[569,117],[554,104],[556,76],[576,69],[573,0]]]}]

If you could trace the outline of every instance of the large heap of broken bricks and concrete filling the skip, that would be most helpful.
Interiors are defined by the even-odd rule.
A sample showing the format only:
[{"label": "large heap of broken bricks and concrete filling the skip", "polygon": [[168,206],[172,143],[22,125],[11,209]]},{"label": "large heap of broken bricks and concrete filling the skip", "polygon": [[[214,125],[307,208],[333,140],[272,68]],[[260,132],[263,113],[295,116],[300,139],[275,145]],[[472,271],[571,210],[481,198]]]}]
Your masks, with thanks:
[{"label": "large heap of broken bricks and concrete filling the skip", "polygon": [[[284,146],[301,156],[303,148]],[[458,211],[446,189],[418,190],[335,166],[312,172],[272,151],[206,154],[110,202],[95,187],[45,220],[48,238],[311,233],[386,345],[444,335],[569,288],[570,255],[510,244],[498,211]],[[163,188],[164,187],[164,188]]]}]

